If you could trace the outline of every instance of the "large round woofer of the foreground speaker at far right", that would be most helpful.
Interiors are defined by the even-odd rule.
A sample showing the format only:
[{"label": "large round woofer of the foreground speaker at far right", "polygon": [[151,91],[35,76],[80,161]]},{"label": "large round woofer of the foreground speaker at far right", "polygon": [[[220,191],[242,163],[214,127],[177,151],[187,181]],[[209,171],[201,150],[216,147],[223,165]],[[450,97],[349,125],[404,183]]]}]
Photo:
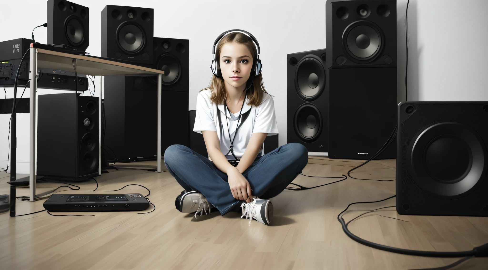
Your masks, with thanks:
[{"label": "large round woofer of the foreground speaker at far right", "polygon": [[431,196],[466,196],[483,175],[484,148],[481,137],[465,124],[433,124],[412,138],[407,159],[410,175]]}]

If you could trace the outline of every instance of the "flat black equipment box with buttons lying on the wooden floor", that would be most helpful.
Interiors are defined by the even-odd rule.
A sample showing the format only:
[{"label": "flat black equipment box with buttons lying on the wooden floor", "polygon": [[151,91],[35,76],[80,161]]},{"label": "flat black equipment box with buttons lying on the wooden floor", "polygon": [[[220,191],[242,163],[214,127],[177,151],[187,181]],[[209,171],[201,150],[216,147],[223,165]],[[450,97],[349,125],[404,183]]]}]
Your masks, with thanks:
[{"label": "flat black equipment box with buttons lying on the wooden floor", "polygon": [[43,204],[50,212],[142,211],[149,201],[141,194],[53,194]]}]

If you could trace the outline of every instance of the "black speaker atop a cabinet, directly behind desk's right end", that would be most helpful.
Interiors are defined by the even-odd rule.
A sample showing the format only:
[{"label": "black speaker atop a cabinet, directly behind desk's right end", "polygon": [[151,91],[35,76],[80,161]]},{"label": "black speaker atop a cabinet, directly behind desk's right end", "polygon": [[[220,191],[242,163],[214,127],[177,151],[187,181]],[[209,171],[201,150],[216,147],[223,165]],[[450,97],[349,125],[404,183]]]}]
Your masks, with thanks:
[{"label": "black speaker atop a cabinet, directly behind desk's right end", "polygon": [[[164,71],[164,90],[188,91],[190,40],[154,37],[154,69]],[[157,80],[157,77],[152,77]]]}]

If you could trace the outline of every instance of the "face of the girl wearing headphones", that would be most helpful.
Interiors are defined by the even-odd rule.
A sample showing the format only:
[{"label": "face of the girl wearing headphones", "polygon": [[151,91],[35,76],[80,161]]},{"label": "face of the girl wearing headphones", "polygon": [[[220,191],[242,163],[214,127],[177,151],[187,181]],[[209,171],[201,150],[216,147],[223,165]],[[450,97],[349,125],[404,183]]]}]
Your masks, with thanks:
[{"label": "face of the girl wearing headphones", "polygon": [[251,55],[244,44],[227,42],[222,46],[219,65],[222,77],[227,84],[235,88],[245,87],[253,64]]}]

